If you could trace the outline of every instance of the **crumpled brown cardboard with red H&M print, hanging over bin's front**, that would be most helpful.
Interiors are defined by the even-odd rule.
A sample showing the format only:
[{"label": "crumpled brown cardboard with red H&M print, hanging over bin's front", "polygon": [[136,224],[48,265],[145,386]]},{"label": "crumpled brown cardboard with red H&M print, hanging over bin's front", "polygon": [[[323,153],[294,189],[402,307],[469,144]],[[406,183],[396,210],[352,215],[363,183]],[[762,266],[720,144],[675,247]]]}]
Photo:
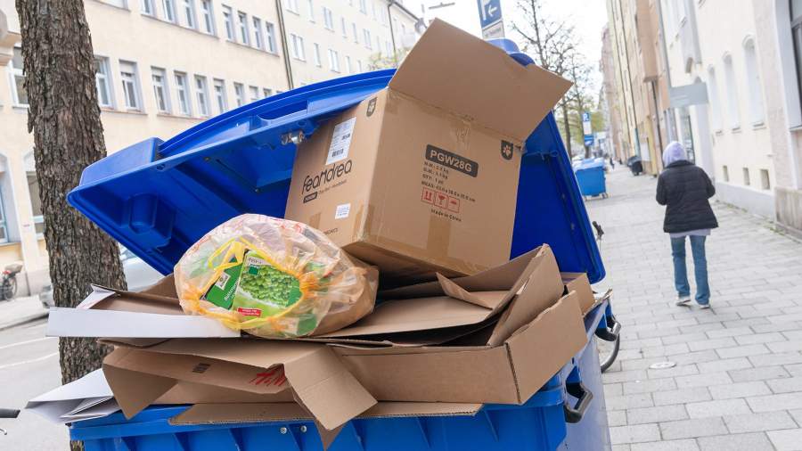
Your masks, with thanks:
[{"label": "crumpled brown cardboard with red H&M print, hanging over bin's front", "polygon": [[117,348],[103,373],[128,418],[178,381],[270,395],[291,389],[300,406],[326,430],[335,430],[376,400],[340,364],[330,348],[271,340],[177,339],[144,350]]}]

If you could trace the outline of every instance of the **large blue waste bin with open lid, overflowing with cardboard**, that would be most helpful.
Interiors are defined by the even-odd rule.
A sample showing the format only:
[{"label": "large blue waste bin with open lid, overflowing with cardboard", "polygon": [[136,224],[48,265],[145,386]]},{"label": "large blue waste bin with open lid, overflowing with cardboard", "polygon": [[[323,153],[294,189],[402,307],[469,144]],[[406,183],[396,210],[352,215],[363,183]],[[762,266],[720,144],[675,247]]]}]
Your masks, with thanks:
[{"label": "large blue waste bin with open lid, overflowing with cardboard", "polygon": [[[494,44],[521,64],[532,62],[511,41]],[[86,168],[68,200],[167,275],[193,242],[227,219],[246,212],[283,217],[296,143],[387,86],[393,73],[303,86],[228,111],[168,141],[136,143]],[[548,243],[561,270],[584,272],[591,283],[599,282],[604,266],[557,124],[550,113],[533,127],[521,160],[511,258]],[[473,417],[357,419],[331,449],[552,450],[568,446],[577,434],[593,446],[571,449],[607,449],[593,331],[609,310],[598,307],[587,316],[591,341],[585,350],[524,406],[486,406]],[[577,405],[572,396],[585,393],[583,387],[593,393],[592,400],[583,398],[589,404],[577,406],[584,415],[566,405]],[[309,422],[170,425],[168,418],[184,408],[153,406],[128,421],[112,414],[74,423],[70,433],[85,440],[89,451],[321,448]]]}]

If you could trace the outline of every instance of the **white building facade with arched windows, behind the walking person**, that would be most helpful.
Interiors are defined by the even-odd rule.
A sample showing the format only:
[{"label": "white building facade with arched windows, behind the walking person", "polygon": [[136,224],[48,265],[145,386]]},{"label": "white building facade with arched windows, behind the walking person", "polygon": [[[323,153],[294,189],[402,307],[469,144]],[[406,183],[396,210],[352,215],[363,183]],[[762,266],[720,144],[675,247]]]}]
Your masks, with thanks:
[{"label": "white building facade with arched windows, behind the walking person", "polygon": [[694,104],[675,109],[683,143],[715,179],[719,200],[774,217],[773,150],[758,63],[762,49],[750,6],[662,0],[663,29],[672,86],[705,87],[695,91],[701,95]]}]

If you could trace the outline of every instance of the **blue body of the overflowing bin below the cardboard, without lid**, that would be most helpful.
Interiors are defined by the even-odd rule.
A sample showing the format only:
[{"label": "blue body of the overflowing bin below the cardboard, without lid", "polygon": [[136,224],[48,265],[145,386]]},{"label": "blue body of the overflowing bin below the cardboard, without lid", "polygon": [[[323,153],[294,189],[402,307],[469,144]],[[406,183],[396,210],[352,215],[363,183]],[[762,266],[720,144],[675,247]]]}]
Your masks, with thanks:
[{"label": "blue body of the overflowing bin below the cardboard, without lid", "polygon": [[[585,317],[588,344],[522,406],[487,405],[468,416],[365,418],[348,422],[330,451],[553,451],[610,449],[594,332],[606,302]],[[590,398],[584,406],[567,392]],[[70,439],[86,451],[322,451],[311,421],[173,426],[187,406],[151,406],[75,422]],[[568,420],[568,421],[567,421]]]}]

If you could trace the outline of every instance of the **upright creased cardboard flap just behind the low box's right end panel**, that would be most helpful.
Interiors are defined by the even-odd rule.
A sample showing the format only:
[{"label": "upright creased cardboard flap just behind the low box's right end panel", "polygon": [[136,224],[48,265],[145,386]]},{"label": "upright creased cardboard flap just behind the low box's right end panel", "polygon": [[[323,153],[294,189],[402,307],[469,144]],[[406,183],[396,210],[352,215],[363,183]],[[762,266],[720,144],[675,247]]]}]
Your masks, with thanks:
[{"label": "upright creased cardboard flap just behind the low box's right end panel", "polygon": [[495,324],[487,344],[498,346],[507,340],[512,332],[520,329],[541,314],[546,308],[557,302],[563,290],[560,269],[557,260],[551,252],[542,252],[532,262],[537,265],[528,276],[524,287],[510,307],[504,310],[503,315]]}]

